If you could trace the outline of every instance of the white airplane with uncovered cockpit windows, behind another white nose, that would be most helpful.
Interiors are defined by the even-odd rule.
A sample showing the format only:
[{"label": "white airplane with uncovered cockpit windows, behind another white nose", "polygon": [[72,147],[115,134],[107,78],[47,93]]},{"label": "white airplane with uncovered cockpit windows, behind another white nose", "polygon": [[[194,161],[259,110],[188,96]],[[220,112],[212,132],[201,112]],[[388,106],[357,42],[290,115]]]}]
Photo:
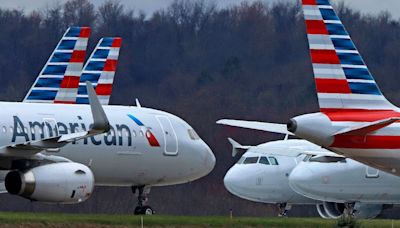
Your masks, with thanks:
[{"label": "white airplane with uncovered cockpit windows, behind another white nose", "polygon": [[[316,145],[302,143],[304,140],[272,141],[258,146],[242,146],[229,138],[235,156],[246,151],[238,162],[225,174],[225,188],[242,199],[259,203],[275,204],[279,216],[286,216],[292,205],[317,205],[318,201],[297,194],[289,187],[288,177],[292,169],[301,162],[297,147],[305,144],[310,150]],[[276,155],[282,148],[290,155]]]}]

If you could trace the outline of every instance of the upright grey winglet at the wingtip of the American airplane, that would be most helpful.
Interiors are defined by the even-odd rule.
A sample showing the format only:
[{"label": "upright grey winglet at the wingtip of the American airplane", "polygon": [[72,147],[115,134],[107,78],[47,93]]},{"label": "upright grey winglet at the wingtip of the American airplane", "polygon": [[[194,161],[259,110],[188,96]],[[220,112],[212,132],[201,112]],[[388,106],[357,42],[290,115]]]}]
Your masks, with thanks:
[{"label": "upright grey winglet at the wingtip of the American airplane", "polygon": [[91,82],[86,82],[86,89],[88,91],[89,104],[93,115],[93,127],[90,131],[108,132],[110,130],[110,122],[108,121],[107,115],[100,104]]}]

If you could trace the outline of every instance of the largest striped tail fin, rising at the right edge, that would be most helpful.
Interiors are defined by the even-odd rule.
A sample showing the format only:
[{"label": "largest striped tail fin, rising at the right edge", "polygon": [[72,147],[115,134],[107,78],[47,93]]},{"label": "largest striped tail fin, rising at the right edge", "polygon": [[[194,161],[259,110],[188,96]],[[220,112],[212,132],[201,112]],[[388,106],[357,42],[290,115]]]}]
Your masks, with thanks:
[{"label": "largest striped tail fin, rising at the right edge", "polygon": [[381,93],[329,0],[302,0],[321,112],[397,109]]}]

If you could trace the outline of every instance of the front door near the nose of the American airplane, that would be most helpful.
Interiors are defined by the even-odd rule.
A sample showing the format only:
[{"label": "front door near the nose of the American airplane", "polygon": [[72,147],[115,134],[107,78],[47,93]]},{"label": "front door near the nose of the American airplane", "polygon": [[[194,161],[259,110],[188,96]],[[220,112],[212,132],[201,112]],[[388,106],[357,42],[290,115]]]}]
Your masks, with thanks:
[{"label": "front door near the nose of the American airplane", "polygon": [[177,155],[178,154],[178,138],[171,121],[166,116],[157,116],[164,136],[164,154]]}]

